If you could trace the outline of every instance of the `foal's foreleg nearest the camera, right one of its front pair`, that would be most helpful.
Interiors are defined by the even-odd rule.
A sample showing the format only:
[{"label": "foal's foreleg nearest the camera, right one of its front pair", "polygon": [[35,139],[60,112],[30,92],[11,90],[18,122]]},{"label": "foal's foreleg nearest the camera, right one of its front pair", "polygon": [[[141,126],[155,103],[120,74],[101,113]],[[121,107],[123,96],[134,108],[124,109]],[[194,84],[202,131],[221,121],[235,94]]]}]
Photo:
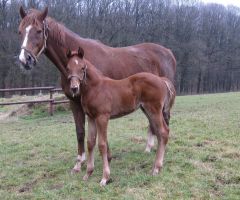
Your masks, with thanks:
[{"label": "foal's foreleg nearest the camera, right one of its front pair", "polygon": [[110,167],[107,153],[107,125],[109,116],[100,115],[96,118],[97,134],[98,134],[98,148],[103,160],[103,176],[100,182],[101,186],[105,186],[110,178]]}]

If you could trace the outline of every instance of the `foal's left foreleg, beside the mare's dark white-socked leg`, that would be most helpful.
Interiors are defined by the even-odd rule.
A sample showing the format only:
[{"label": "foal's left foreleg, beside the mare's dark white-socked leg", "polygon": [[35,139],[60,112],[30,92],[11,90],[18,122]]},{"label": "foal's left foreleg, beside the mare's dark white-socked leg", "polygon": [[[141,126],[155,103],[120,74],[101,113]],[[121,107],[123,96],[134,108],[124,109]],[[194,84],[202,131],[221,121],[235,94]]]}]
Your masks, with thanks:
[{"label": "foal's left foreleg, beside the mare's dark white-socked leg", "polygon": [[88,117],[88,139],[87,139],[87,148],[88,148],[88,159],[87,159],[87,173],[83,177],[83,180],[86,181],[89,176],[93,173],[94,170],[94,147],[96,144],[97,129],[95,121]]}]

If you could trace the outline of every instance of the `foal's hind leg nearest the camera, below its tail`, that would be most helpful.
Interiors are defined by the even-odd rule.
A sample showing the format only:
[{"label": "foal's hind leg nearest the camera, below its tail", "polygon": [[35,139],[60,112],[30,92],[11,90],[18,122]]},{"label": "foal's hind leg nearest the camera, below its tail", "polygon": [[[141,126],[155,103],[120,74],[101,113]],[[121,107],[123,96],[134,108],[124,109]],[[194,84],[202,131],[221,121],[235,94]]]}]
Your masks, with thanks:
[{"label": "foal's hind leg nearest the camera, below its tail", "polygon": [[165,154],[166,145],[168,142],[168,136],[169,136],[169,128],[166,125],[166,122],[164,120],[162,112],[159,113],[159,116],[155,118],[155,124],[156,124],[156,136],[158,140],[158,148],[157,148],[157,154],[156,159],[152,171],[152,175],[157,175],[159,173],[159,170],[163,166],[163,159]]}]

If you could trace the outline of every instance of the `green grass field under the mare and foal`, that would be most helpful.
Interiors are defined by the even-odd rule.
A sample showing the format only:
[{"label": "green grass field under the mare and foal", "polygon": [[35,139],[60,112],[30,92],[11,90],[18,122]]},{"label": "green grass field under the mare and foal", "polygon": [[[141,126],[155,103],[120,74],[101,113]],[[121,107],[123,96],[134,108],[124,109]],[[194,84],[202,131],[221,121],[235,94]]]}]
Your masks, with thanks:
[{"label": "green grass field under the mare and foal", "polygon": [[[4,112],[4,108],[0,108]],[[164,167],[152,177],[141,112],[109,126],[112,183],[99,186],[102,162],[83,182],[71,175],[76,136],[70,112],[36,109],[0,122],[0,199],[240,199],[240,93],[177,97]]]}]

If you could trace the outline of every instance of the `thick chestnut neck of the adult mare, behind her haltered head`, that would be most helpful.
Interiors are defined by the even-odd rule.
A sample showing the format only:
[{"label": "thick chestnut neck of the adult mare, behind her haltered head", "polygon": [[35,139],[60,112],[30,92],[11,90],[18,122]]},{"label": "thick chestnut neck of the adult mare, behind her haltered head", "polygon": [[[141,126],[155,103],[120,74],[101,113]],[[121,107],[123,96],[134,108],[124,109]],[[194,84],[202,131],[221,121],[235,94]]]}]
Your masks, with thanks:
[{"label": "thick chestnut neck of the adult mare, behind her haltered head", "polygon": [[[79,46],[84,48],[84,40],[51,18],[47,19],[47,23],[49,32],[45,55],[55,64],[61,74],[66,78],[66,66],[68,62],[66,51],[68,49],[77,49]],[[72,42],[69,43],[68,41]]]}]

